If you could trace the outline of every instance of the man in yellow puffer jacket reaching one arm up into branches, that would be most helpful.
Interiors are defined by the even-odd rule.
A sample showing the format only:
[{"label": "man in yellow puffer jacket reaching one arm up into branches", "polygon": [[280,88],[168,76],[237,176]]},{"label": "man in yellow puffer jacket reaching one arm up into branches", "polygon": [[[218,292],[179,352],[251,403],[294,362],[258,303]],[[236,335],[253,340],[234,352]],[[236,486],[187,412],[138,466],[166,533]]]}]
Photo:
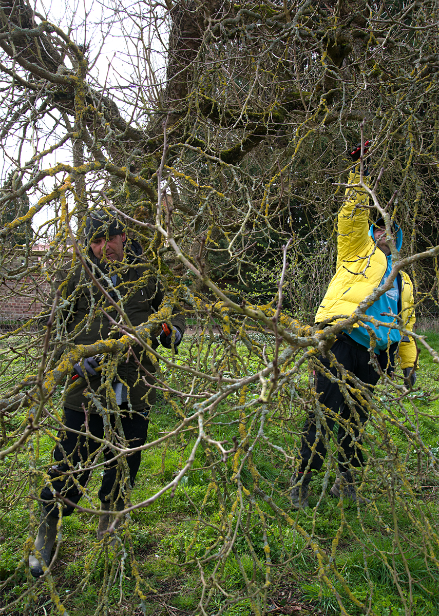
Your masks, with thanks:
[{"label": "man in yellow puffer jacket reaching one arm up into branches", "polygon": [[[353,160],[358,160],[358,150],[351,154]],[[355,153],[358,153],[357,158]],[[359,168],[350,173],[348,184],[359,184]],[[364,188],[347,188],[345,201],[338,213],[337,269],[315,318],[315,322],[323,326],[340,320],[340,315],[350,316],[361,301],[384,285],[392,270],[392,255],[384,221],[380,219],[371,225],[367,205],[369,195]],[[393,241],[398,251],[402,239],[401,229],[395,225]],[[413,286],[409,276],[400,272],[392,288],[374,302],[371,301],[366,314],[386,325],[368,320],[355,323],[350,331],[339,334],[330,349],[337,362],[372,389],[379,380],[379,371],[392,373],[396,355],[406,382],[413,385],[417,357],[414,339],[411,336],[401,338],[400,330],[392,328],[392,324],[397,324],[396,317],[392,315],[398,315],[409,331],[412,331],[415,322]],[[374,362],[371,362],[371,347]],[[327,373],[342,380],[340,372],[330,365],[329,359],[319,357],[319,360]],[[353,413],[336,379],[333,379],[335,382],[330,381],[320,372],[316,375],[319,402],[330,411],[325,414],[322,423],[316,421],[314,413],[311,413],[303,428],[300,467],[292,477],[290,492],[292,506],[297,509],[308,506],[308,487],[313,470],[321,469],[326,456],[326,434],[332,431],[336,421],[339,472],[330,495],[339,497],[341,493],[356,503],[367,502],[366,498],[358,495],[351,472],[353,467],[363,466],[360,432],[367,421],[367,409],[357,403]],[[350,384],[355,387],[354,381]]]}]

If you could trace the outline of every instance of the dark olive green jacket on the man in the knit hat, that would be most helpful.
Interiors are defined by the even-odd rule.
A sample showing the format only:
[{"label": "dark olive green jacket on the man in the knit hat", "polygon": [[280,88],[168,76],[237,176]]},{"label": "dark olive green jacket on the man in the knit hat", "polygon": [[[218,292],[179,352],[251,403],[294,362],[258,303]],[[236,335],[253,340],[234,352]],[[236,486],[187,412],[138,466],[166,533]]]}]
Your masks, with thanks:
[{"label": "dark olive green jacket on the man in the knit hat", "polygon": [[[99,283],[123,307],[131,324],[138,326],[146,323],[150,315],[158,311],[163,301],[163,291],[157,278],[154,274],[151,274],[150,267],[139,259],[142,254],[141,246],[136,241],[128,240],[126,253],[128,265],[126,262],[123,264],[102,264],[97,261],[91,250],[88,256],[92,264],[96,266],[94,267],[94,275],[99,279]],[[115,272],[117,272],[117,280],[113,284],[111,276]],[[62,306],[62,314],[67,334],[70,334],[67,337],[73,338],[75,344],[93,344],[99,340],[123,336],[123,332],[115,331],[115,328],[110,331],[109,319],[105,317],[101,309],[104,309],[116,321],[120,317],[116,310],[111,308],[111,304],[104,294],[96,285],[93,285],[82,265],[75,270],[70,278],[60,281],[59,288],[62,291],[62,298],[65,300]],[[170,322],[178,328],[183,336],[184,315],[179,313],[175,306],[172,314],[173,317],[170,321],[168,320],[168,323]],[[155,348],[158,344],[157,338],[152,336],[152,347]],[[129,408],[139,411],[154,404],[156,392],[154,388],[145,383],[142,377],[148,383],[154,383],[154,378],[148,376],[137,365],[136,358],[151,375],[154,374],[155,368],[140,345],[133,345],[132,351],[129,353],[128,360],[125,356],[119,363],[117,376],[112,383],[121,381],[127,386]],[[87,374],[89,383],[86,383],[82,378],[70,383],[64,396],[65,407],[81,411],[84,404],[85,408],[88,408],[91,413],[99,412],[97,407],[101,405],[110,412],[117,409],[112,387],[108,384],[101,386],[105,379],[109,378],[107,368],[111,360],[111,355],[103,356],[102,372],[96,376]]]}]

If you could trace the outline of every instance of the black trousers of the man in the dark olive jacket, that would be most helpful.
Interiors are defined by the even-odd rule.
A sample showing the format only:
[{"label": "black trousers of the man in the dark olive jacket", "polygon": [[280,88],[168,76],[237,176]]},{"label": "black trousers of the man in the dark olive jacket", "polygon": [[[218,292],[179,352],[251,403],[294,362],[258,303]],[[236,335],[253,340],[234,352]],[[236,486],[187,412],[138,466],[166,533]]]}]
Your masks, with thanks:
[{"label": "black trousers of the man in the dark olive jacket", "polygon": [[[122,411],[125,413],[120,414],[121,426],[123,428],[123,434],[125,441],[128,442],[129,447],[140,447],[146,442],[148,434],[148,411],[142,411],[142,413],[129,413],[126,411],[128,407],[127,403],[120,405]],[[85,417],[83,412],[73,411],[71,408],[64,408],[64,424],[67,428],[71,428],[77,431],[85,430]],[[110,415],[110,424],[113,431],[117,432],[115,428],[115,416]],[[104,421],[101,415],[92,413],[88,416],[88,429],[93,436],[98,439],[105,439]],[[108,435],[107,435],[108,436]],[[55,447],[54,459],[59,462],[56,466],[52,466],[49,469],[49,477],[51,477],[51,487],[55,492],[60,492],[62,496],[67,497],[73,503],[78,503],[83,494],[81,487],[86,485],[91,470],[86,470],[87,466],[91,466],[94,462],[94,453],[97,451],[101,444],[96,440],[74,434],[67,430],[60,430],[58,432],[59,444]],[[114,458],[114,450],[105,448],[104,460],[110,461]],[[66,461],[67,458],[67,461]],[[101,501],[117,501],[120,496],[120,480],[123,475],[123,466],[121,461],[123,458],[118,458],[113,462],[109,462],[108,466],[104,466],[104,476],[102,477],[101,489],[99,490],[99,498]],[[134,485],[134,479],[139,470],[141,461],[141,452],[135,452],[126,456],[126,463],[129,468],[129,479],[131,481],[131,487]],[[80,464],[80,466],[79,466]],[[72,471],[73,468],[84,468],[85,470],[80,473],[75,473],[72,476],[65,475],[63,473]],[[99,470],[101,467],[99,467]],[[58,507],[54,503],[54,496],[49,485],[43,488],[41,492],[41,498],[47,503],[46,511],[51,516],[58,517]],[[62,509],[63,516],[70,516],[75,508],[71,505],[64,505]]]}]

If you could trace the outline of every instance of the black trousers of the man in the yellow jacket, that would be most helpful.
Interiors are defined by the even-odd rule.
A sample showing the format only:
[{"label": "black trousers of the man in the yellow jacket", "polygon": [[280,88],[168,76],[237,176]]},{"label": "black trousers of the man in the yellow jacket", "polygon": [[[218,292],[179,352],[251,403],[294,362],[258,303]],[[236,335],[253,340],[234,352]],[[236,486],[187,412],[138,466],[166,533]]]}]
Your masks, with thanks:
[{"label": "black trousers of the man in the yellow jacket", "polygon": [[[371,386],[369,389],[372,390],[373,386],[376,385],[379,380],[379,374],[369,363],[371,360],[369,350],[351,341],[351,339],[348,340],[350,344],[345,342],[343,338],[337,339],[330,350],[334,353],[338,363],[352,372],[360,381],[369,384]],[[386,370],[389,371],[393,366],[396,346],[396,344],[393,344],[388,354],[382,351],[380,355],[377,355],[377,360],[384,372]],[[328,359],[320,356],[319,360],[327,370],[338,379],[341,379],[337,368],[334,366],[330,367]],[[336,421],[338,422],[338,468],[340,468],[340,471],[344,472],[347,471],[350,466],[363,466],[363,453],[361,452],[361,448],[358,447],[358,444],[361,444],[362,441],[360,429],[364,423],[366,423],[369,415],[367,409],[363,408],[361,403],[358,402],[358,399],[351,394],[351,397],[356,401],[355,411],[351,411],[351,408],[345,401],[339,384],[332,383],[326,376],[318,371],[316,371],[316,373],[316,391],[320,394],[319,402],[321,405],[330,408],[332,413],[324,413],[324,417],[321,419],[320,424],[321,435],[319,434],[319,436],[319,429],[314,413],[310,413],[308,419],[306,419],[302,432],[302,446],[300,448],[300,457],[302,460],[299,470],[304,472],[306,469],[314,469],[316,471],[321,469],[326,456],[326,446],[324,444],[327,434],[326,426],[327,429],[332,431]],[[355,383],[352,381],[350,384],[356,387]],[[326,426],[324,423],[326,423]],[[318,440],[317,444],[316,440]],[[313,445],[315,445],[314,453],[311,450]]]}]

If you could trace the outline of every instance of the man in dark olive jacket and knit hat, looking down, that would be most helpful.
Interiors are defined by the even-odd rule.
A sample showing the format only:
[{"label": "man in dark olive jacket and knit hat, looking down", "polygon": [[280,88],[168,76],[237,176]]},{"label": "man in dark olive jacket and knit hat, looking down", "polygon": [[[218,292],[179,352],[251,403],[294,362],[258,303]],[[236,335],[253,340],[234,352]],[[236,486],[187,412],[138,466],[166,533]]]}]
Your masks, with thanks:
[{"label": "man in dark olive jacket and knit hat, looking down", "polygon": [[[109,218],[104,212],[92,213],[86,221],[88,241],[88,267],[110,297],[123,309],[132,326],[147,322],[153,312],[160,309],[163,292],[150,265],[141,259],[142,248],[134,240],[126,238],[124,227],[116,218]],[[114,337],[112,323],[120,319],[104,293],[92,283],[80,265],[73,275],[61,281],[63,317],[67,340],[73,344],[93,344]],[[160,343],[176,349],[184,332],[184,317],[173,307],[172,318],[160,334]],[[158,346],[153,336],[152,347]],[[96,464],[102,444],[96,439],[117,442],[129,448],[139,447],[146,442],[149,408],[155,402],[152,384],[154,365],[140,345],[133,345],[123,360],[113,367],[113,356],[104,354],[84,358],[74,367],[72,384],[64,397],[64,424],[67,429],[58,433],[59,442],[55,447],[56,466],[49,469],[51,482],[43,488],[41,499],[47,501],[43,507],[38,537],[35,541],[39,557],[29,559],[30,571],[35,577],[43,574],[42,563],[48,565],[56,537],[59,505],[54,493],[59,492],[69,501],[77,504],[83,494],[83,487],[91,470],[87,466]],[[112,371],[113,367],[113,371]],[[84,413],[84,409],[86,413]],[[88,431],[96,439],[78,437],[78,432]],[[102,449],[101,449],[102,450]],[[141,452],[112,461],[115,451],[104,448],[104,466],[99,498],[104,511],[121,511],[125,508],[127,489],[134,484],[140,466]],[[75,472],[66,475],[73,470]],[[64,505],[62,515],[69,516],[73,505]],[[110,515],[99,517],[97,536],[104,537],[109,528]]]}]

